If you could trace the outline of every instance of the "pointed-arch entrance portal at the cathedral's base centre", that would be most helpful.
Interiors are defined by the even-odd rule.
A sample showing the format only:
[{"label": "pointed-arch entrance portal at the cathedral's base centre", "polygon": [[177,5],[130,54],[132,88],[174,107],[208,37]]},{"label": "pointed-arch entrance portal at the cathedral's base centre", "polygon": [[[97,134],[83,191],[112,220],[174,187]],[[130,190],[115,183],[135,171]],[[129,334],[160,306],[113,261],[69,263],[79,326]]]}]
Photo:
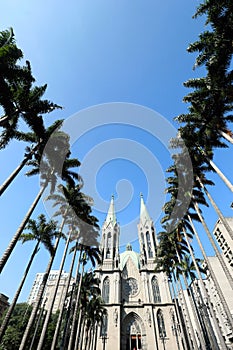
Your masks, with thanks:
[{"label": "pointed-arch entrance portal at the cathedral's base centre", "polygon": [[146,350],[146,334],[142,319],[134,312],[122,322],[121,350]]}]

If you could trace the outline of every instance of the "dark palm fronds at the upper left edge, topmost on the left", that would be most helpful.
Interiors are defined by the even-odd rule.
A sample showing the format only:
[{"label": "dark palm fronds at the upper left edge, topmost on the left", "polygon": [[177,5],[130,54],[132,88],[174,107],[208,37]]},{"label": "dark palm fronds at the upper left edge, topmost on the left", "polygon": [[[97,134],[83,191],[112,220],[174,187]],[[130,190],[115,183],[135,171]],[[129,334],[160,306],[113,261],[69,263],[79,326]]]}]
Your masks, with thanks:
[{"label": "dark palm fronds at the upper left edge, topmost on the left", "polygon": [[[43,132],[42,114],[50,113],[61,108],[48,100],[42,100],[47,85],[33,86],[31,66],[28,61],[20,67],[17,62],[23,58],[23,53],[15,44],[13,30],[0,33],[0,105],[4,116],[0,118],[0,126],[4,129],[1,134],[0,148],[13,138],[18,138],[17,132],[19,118],[36,135]],[[40,135],[42,136],[42,135]]]}]

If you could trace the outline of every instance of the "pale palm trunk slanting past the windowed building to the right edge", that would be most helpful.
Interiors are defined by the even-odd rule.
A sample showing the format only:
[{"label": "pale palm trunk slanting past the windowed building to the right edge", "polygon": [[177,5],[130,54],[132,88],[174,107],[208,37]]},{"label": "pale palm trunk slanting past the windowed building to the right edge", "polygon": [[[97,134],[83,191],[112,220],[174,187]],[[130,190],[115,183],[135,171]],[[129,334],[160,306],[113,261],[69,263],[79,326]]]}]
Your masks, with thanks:
[{"label": "pale palm trunk slanting past the windowed building to the right edge", "polygon": [[203,218],[203,216],[202,216],[202,214],[200,212],[200,209],[198,207],[197,202],[194,202],[194,208],[195,208],[195,210],[197,212],[197,215],[198,215],[198,217],[199,217],[199,219],[200,219],[200,221],[201,221],[201,223],[202,223],[202,225],[203,225],[203,227],[205,229],[205,232],[206,232],[206,234],[208,236],[208,239],[209,239],[209,241],[210,241],[210,243],[211,243],[211,245],[212,245],[212,247],[214,249],[216,257],[219,259],[220,265],[221,265],[223,271],[226,274],[226,277],[227,277],[227,279],[229,281],[231,289],[233,289],[233,279],[232,279],[232,276],[231,276],[231,272],[228,270],[228,267],[227,267],[227,265],[226,265],[226,263],[225,263],[225,261],[224,261],[224,259],[222,257],[222,254],[220,254],[220,252],[219,252],[219,249],[218,249],[218,247],[217,247],[217,245],[216,245],[216,243],[215,243],[215,241],[214,241],[214,239],[213,239],[213,237],[212,237],[212,235],[211,235],[211,233],[210,233],[210,231],[208,229],[208,226],[206,225],[206,222],[205,222],[205,220],[204,220],[204,218]]}]

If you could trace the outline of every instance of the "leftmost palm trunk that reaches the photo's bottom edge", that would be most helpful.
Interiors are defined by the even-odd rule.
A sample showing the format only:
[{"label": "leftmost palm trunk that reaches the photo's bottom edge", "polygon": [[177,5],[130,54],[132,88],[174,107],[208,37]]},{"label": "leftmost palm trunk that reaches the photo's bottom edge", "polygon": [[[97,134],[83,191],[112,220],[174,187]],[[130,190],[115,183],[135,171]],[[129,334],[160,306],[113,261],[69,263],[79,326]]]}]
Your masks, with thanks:
[{"label": "leftmost palm trunk that reaches the photo's bottom edge", "polygon": [[[65,219],[62,220],[61,227],[60,227],[60,232],[62,232],[64,224],[65,224]],[[23,335],[23,338],[22,338],[19,350],[24,350],[26,348],[27,339],[28,339],[31,327],[32,327],[32,325],[34,323],[37,311],[38,311],[39,306],[40,306],[41,301],[42,301],[42,297],[43,297],[43,294],[44,294],[45,286],[46,286],[46,283],[47,283],[47,280],[48,280],[48,277],[49,277],[50,270],[51,270],[52,265],[53,265],[53,261],[54,261],[54,258],[55,258],[55,254],[56,254],[56,251],[57,251],[60,239],[61,239],[61,237],[57,237],[57,239],[55,241],[54,254],[51,256],[51,258],[49,260],[47,269],[46,269],[44,277],[43,277],[43,281],[42,281],[42,283],[40,285],[40,290],[39,290],[39,293],[38,293],[38,296],[37,296],[37,301],[36,301],[36,304],[33,307],[31,316],[30,316],[30,318],[28,320],[28,324],[27,324],[27,327],[25,329],[25,332],[24,332],[24,335]]]}]

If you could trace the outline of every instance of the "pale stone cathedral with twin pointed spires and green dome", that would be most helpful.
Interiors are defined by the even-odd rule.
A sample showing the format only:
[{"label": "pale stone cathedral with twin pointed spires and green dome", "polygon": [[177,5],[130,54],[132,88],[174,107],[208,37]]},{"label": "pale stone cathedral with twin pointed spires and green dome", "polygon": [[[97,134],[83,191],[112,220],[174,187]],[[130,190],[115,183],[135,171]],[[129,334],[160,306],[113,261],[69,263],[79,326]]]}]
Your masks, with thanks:
[{"label": "pale stone cathedral with twin pointed spires and green dome", "polygon": [[120,254],[120,227],[112,197],[102,227],[101,281],[107,315],[98,334],[97,350],[183,349],[169,284],[163,272],[155,273],[157,238],[141,195],[138,239],[140,251],[128,244]]}]

